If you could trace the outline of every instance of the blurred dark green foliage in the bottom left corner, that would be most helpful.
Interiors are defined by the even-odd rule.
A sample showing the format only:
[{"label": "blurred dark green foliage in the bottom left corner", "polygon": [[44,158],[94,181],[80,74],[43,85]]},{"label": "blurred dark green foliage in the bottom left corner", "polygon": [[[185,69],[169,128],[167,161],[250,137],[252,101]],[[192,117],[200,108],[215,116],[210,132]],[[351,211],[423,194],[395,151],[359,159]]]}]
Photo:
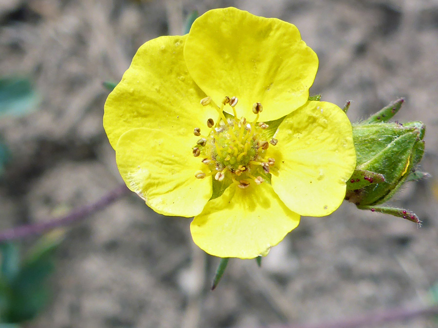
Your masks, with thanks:
[{"label": "blurred dark green foliage in the bottom left corner", "polygon": [[43,236],[21,259],[18,245],[0,244],[0,328],[35,318],[49,300],[48,278],[55,269],[55,250],[64,233]]}]

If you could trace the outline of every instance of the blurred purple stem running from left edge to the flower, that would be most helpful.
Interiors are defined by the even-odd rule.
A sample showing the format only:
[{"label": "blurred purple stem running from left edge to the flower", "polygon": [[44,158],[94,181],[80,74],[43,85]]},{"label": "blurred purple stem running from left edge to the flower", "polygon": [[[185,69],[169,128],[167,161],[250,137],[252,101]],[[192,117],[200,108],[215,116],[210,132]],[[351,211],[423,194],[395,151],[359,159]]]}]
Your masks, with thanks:
[{"label": "blurred purple stem running from left edge to the flower", "polygon": [[67,215],[42,223],[25,224],[15,228],[0,231],[0,242],[35,236],[42,234],[46,231],[52,230],[59,226],[77,223],[85,219],[90,214],[93,214],[101,209],[104,209],[105,207],[114,203],[120,197],[127,194],[128,191],[129,189],[126,187],[125,184],[123,184],[111,190],[108,194],[103,196],[97,202],[83,207],[79,207],[77,209],[73,209]]}]

